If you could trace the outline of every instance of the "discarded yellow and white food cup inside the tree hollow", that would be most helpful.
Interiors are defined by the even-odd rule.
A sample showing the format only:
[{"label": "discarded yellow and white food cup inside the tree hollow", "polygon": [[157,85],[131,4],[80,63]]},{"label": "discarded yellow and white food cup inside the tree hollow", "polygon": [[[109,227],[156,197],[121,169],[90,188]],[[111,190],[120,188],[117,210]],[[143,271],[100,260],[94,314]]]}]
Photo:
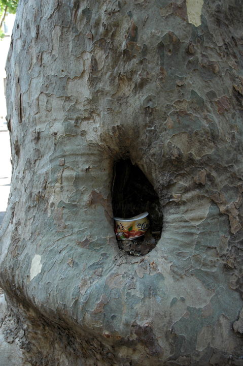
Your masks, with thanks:
[{"label": "discarded yellow and white food cup inside the tree hollow", "polygon": [[130,219],[114,218],[117,239],[133,240],[146,233],[149,228],[149,212],[134,216]]}]

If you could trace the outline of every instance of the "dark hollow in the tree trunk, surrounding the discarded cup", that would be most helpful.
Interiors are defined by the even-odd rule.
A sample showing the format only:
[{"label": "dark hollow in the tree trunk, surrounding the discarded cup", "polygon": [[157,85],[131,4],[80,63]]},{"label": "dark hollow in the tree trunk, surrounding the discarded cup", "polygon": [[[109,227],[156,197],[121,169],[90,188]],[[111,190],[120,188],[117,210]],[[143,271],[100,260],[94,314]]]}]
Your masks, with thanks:
[{"label": "dark hollow in the tree trunk, surrounding the discarded cup", "polygon": [[112,187],[114,217],[129,219],[149,212],[150,228],[144,236],[133,240],[119,240],[119,249],[129,255],[143,256],[155,248],[161,236],[163,215],[159,197],[145,174],[130,159],[114,165]]}]

